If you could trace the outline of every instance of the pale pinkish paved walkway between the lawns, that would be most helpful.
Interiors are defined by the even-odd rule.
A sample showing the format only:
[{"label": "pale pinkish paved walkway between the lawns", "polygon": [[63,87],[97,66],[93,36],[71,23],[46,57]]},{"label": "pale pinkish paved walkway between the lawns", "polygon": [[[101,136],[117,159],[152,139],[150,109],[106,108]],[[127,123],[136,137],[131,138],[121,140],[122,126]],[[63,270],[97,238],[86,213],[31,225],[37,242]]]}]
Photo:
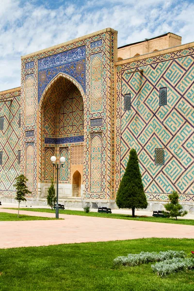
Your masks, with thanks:
[{"label": "pale pinkish paved walkway between the lawns", "polygon": [[[0,209],[17,213],[17,210]],[[54,213],[20,211],[55,217]],[[138,238],[193,238],[194,226],[60,214],[65,220],[1,221],[0,248]]]}]

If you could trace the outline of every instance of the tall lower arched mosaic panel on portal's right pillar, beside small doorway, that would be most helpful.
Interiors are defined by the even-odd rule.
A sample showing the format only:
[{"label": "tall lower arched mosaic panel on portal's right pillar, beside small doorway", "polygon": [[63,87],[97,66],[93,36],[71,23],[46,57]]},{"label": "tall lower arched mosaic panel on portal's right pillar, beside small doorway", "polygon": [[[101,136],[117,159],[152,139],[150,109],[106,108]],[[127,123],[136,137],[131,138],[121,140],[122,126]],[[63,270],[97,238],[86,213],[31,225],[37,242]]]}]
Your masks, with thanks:
[{"label": "tall lower arched mosaic panel on portal's right pillar, beside small doorway", "polygon": [[91,134],[90,192],[101,193],[102,187],[102,139],[101,134]]}]

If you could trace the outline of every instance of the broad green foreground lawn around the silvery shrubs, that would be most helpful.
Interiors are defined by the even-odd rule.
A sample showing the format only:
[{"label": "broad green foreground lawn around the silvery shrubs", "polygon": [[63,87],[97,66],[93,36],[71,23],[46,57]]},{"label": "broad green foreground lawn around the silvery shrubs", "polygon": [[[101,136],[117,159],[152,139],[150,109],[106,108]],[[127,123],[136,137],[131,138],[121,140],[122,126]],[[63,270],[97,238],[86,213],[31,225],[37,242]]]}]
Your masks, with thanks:
[{"label": "broad green foreground lawn around the silvery shrubs", "polygon": [[137,239],[0,249],[0,291],[193,291],[194,271],[158,277],[151,263],[113,267],[141,251],[194,250],[191,239]]}]

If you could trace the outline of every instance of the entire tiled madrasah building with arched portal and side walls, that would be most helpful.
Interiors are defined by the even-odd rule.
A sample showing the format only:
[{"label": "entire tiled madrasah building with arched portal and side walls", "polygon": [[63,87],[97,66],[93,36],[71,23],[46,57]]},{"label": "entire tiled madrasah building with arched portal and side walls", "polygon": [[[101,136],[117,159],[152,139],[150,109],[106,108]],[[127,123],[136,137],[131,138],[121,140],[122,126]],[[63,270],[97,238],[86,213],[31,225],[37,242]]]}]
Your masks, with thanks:
[{"label": "entire tiled madrasah building with arched portal and side walls", "polygon": [[178,191],[194,212],[194,43],[166,33],[117,47],[108,28],[21,57],[21,87],[0,92],[0,201],[47,205],[51,156],[65,157],[59,203],[108,206],[138,153],[147,210]]}]

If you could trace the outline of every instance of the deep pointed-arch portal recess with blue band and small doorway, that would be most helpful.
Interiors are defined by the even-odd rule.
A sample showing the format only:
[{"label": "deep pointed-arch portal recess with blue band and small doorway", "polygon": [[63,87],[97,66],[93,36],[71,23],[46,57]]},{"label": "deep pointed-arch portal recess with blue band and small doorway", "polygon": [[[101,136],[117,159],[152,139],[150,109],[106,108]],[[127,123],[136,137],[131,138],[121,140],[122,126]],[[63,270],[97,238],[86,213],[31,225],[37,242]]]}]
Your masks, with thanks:
[{"label": "deep pointed-arch portal recess with blue band and small doorway", "polygon": [[[48,85],[40,102],[39,124],[41,122],[41,197],[46,197],[50,177],[56,181],[56,172],[50,162],[50,153],[57,157],[65,157],[64,167],[59,175],[59,198],[81,196],[83,183],[83,147],[84,147],[84,96],[75,81],[59,74]],[[72,174],[75,168],[79,177]],[[48,175],[49,173],[49,175]],[[81,178],[80,178],[81,177]],[[74,183],[75,180],[75,183]],[[75,190],[74,185],[78,189]],[[77,192],[76,192],[77,191]]]}]

